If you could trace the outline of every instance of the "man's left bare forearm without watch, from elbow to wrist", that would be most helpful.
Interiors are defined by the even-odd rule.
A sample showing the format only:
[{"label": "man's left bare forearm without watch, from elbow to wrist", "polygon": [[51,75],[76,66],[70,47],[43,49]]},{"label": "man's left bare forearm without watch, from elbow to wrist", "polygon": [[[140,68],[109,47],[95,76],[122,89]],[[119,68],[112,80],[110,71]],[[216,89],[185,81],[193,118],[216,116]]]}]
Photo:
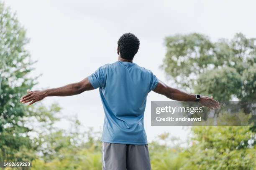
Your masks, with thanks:
[{"label": "man's left bare forearm without watch, from elbow to wrist", "polygon": [[44,90],[46,96],[71,96],[78,95],[83,92],[78,83],[72,83],[59,88]]}]

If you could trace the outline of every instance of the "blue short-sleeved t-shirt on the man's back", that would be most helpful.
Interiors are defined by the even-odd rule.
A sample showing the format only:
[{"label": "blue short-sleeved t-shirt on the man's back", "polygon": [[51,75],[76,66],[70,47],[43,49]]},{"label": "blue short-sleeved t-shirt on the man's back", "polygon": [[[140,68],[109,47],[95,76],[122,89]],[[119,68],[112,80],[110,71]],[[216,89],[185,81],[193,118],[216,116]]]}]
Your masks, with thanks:
[{"label": "blue short-sleeved t-shirt on the man's back", "polygon": [[106,64],[88,77],[99,87],[105,119],[102,142],[144,145],[146,97],[158,83],[156,76],[133,62]]}]

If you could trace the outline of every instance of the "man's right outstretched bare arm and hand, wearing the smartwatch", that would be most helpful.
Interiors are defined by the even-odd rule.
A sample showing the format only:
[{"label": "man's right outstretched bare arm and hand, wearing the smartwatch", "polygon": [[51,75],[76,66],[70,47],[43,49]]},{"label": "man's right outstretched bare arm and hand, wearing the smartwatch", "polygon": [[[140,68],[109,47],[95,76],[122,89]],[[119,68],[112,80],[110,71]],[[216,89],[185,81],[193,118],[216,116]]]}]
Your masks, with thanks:
[{"label": "man's right outstretched bare arm and hand, wearing the smartwatch", "polygon": [[[191,101],[191,102],[196,101],[196,95],[189,94],[181,90],[178,90],[176,88],[169,87],[168,85],[164,84],[164,82],[161,82],[161,81],[158,82],[158,84],[156,85],[156,88],[153,91],[161,95],[165,95],[166,97],[172,100]],[[201,96],[199,102],[203,106],[209,107],[210,109],[215,109],[219,107],[219,102],[212,99],[212,97]]]}]

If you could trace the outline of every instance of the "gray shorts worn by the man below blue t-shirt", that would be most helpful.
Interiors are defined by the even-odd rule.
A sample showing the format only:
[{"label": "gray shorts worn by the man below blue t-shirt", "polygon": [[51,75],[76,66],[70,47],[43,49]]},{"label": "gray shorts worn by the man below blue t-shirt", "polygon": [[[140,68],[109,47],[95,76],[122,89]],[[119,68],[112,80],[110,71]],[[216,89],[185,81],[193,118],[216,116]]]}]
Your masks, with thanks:
[{"label": "gray shorts worn by the man below blue t-shirt", "polygon": [[151,170],[148,145],[102,142],[102,170]]}]

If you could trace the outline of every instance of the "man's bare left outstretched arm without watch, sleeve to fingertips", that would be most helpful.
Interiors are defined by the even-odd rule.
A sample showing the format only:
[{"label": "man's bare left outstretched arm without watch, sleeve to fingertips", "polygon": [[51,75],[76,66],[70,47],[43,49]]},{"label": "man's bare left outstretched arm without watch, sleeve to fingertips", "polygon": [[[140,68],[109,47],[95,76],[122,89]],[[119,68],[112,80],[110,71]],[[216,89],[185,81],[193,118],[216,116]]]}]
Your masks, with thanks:
[{"label": "man's bare left outstretched arm without watch, sleeve to fingertips", "polygon": [[32,105],[35,102],[43,100],[47,96],[71,96],[78,95],[87,90],[93,90],[91,83],[88,78],[76,83],[72,83],[69,85],[65,85],[59,88],[47,89],[47,90],[36,90],[36,91],[28,91],[27,95],[24,95],[20,98],[20,102],[27,103],[28,105]]}]

